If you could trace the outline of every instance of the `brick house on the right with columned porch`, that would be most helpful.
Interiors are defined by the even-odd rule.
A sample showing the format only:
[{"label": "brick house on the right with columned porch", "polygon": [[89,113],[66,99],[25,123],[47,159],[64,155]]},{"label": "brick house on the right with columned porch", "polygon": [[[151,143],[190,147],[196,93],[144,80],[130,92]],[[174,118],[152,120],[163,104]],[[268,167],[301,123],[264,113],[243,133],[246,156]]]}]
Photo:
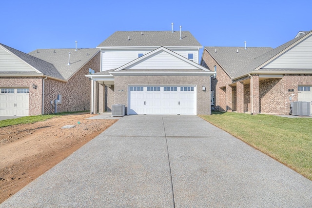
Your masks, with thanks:
[{"label": "brick house on the right with columned porch", "polygon": [[200,63],[216,71],[216,110],[288,114],[292,101],[312,102],[312,31],[275,49],[205,47]]}]

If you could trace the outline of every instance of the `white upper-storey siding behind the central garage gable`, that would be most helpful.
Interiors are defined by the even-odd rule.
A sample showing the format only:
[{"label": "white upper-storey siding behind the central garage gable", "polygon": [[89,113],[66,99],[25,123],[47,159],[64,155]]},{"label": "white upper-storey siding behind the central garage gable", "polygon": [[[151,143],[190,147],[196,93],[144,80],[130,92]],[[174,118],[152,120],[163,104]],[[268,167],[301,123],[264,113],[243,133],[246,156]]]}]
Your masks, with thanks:
[{"label": "white upper-storey siding behind the central garage gable", "polygon": [[[138,58],[139,53],[147,54],[154,49],[119,49],[102,51],[102,71],[118,68]],[[170,48],[168,48],[170,49]],[[194,53],[194,62],[198,63],[198,50],[170,49],[181,56],[188,58],[188,53]]]}]

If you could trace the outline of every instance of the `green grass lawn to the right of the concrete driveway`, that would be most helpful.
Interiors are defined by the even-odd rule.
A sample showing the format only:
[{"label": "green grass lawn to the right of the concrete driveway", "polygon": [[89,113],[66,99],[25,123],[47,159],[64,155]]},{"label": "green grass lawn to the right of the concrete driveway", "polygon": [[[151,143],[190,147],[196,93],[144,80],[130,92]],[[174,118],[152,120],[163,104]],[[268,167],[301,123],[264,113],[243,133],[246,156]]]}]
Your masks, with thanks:
[{"label": "green grass lawn to the right of the concrete driveway", "polygon": [[201,117],[312,180],[312,118],[229,112]]}]

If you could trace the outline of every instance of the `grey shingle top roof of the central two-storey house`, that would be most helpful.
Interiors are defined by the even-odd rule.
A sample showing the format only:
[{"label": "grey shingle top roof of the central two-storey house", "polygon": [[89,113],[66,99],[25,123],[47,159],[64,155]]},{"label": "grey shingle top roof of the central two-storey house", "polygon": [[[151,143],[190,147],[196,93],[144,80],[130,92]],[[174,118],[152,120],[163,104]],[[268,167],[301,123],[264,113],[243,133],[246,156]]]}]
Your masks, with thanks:
[{"label": "grey shingle top roof of the central two-storey house", "polygon": [[[141,33],[143,32],[143,35]],[[130,36],[130,41],[128,37]],[[189,31],[117,31],[98,47],[127,46],[195,46],[202,47]]]}]

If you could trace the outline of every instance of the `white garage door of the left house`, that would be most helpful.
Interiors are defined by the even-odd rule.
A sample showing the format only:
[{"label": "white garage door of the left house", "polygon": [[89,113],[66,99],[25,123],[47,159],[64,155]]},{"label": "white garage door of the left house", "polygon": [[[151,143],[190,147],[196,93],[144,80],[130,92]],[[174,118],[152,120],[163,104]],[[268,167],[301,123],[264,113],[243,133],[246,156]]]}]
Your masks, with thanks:
[{"label": "white garage door of the left house", "polygon": [[1,116],[28,116],[28,88],[0,88]]}]

